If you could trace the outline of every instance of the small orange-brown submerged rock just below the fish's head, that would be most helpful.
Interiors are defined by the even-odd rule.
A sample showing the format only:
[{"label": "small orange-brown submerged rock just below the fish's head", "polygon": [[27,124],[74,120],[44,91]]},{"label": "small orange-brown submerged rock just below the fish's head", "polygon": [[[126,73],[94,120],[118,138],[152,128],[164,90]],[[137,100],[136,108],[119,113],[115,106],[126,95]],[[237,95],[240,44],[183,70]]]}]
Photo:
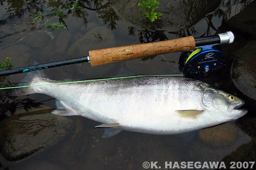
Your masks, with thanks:
[{"label": "small orange-brown submerged rock just below the fish's head", "polygon": [[228,146],[236,141],[237,127],[231,123],[205,128],[199,131],[199,139],[211,146]]}]

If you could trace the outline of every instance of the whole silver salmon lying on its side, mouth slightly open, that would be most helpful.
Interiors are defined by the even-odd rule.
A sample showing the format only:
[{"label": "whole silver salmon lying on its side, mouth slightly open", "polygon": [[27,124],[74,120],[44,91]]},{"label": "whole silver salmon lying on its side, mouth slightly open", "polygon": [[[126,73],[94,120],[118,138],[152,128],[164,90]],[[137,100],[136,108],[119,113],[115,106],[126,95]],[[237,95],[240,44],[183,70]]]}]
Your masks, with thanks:
[{"label": "whole silver salmon lying on its side, mouth slightly open", "polygon": [[[29,85],[57,81],[27,76]],[[23,82],[26,82],[23,81]],[[102,137],[121,130],[179,134],[236,120],[244,101],[197,80],[176,76],[134,76],[92,82],[35,86],[15,95],[41,93],[56,98],[52,113],[80,115],[102,124]]]}]

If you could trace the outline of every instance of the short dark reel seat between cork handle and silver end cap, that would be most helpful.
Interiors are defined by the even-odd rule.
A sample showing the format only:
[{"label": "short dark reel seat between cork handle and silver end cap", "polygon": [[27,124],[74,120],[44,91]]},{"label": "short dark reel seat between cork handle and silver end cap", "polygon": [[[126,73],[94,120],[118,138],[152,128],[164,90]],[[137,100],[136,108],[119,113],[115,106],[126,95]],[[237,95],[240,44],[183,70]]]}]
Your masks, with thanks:
[{"label": "short dark reel seat between cork handle and silver end cap", "polygon": [[195,47],[201,47],[204,45],[220,44],[221,38],[219,35],[212,35],[209,37],[195,38]]}]

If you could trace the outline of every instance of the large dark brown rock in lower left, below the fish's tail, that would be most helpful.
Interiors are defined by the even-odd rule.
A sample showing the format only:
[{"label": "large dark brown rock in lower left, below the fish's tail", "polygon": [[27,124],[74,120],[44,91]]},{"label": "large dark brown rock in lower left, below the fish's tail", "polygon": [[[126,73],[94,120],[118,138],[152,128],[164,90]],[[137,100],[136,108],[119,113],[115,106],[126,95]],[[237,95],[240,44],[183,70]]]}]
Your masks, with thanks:
[{"label": "large dark brown rock in lower left, below the fish's tail", "polygon": [[0,123],[0,152],[8,161],[17,161],[47,149],[73,131],[73,123],[56,116],[53,109],[13,115]]}]

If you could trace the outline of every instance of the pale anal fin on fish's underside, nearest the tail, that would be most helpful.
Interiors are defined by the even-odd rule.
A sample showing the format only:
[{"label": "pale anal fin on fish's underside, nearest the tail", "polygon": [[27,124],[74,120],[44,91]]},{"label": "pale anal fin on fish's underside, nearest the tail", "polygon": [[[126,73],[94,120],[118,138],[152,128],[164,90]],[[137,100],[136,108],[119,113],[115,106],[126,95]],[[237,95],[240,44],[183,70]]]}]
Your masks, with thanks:
[{"label": "pale anal fin on fish's underside, nearest the tail", "polygon": [[56,109],[52,111],[53,114],[60,116],[75,116],[79,115],[72,108],[68,107],[63,101],[56,99]]}]

